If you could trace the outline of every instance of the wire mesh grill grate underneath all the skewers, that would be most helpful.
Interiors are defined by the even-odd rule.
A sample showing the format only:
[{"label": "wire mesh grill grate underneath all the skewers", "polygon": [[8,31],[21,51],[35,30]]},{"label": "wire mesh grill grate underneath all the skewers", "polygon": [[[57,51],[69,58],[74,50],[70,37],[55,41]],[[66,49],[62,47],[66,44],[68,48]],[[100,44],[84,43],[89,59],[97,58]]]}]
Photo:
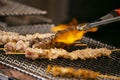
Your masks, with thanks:
[{"label": "wire mesh grill grate underneath all the skewers", "polygon": [[[18,33],[35,33],[41,32],[46,33],[50,32],[50,28],[53,24],[42,24],[42,25],[30,25],[30,26],[19,26],[19,27],[10,27],[5,28],[5,31],[13,31]],[[37,30],[38,29],[38,30]],[[94,39],[83,37],[81,40],[82,43],[87,43],[88,47],[91,48],[100,48],[106,47],[108,49],[115,49],[115,47],[101,43]],[[100,57],[98,59],[89,59],[89,60],[75,60],[70,61],[67,59],[56,59],[49,61],[47,59],[38,59],[30,60],[26,59],[24,55],[6,55],[4,51],[0,52],[0,63],[11,68],[14,68],[18,71],[21,71],[25,74],[29,74],[37,79],[42,80],[73,80],[74,78],[67,77],[54,77],[50,73],[46,73],[46,67],[50,65],[60,65],[66,67],[74,68],[85,68],[98,71],[102,74],[114,75],[120,77],[120,52],[116,51],[111,54],[111,58]],[[111,80],[105,78],[98,78],[99,80]],[[82,80],[82,79],[79,79]]]}]

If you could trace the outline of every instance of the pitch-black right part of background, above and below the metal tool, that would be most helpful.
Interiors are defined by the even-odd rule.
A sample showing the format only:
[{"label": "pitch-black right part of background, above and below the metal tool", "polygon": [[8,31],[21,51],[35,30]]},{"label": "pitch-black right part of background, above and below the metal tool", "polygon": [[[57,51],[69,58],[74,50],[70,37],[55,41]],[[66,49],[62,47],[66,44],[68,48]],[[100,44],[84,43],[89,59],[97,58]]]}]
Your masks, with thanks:
[{"label": "pitch-black right part of background, above and below the metal tool", "polygon": [[[120,0],[70,0],[68,15],[79,23],[92,22],[117,8],[120,8]],[[120,47],[120,22],[104,25],[86,36]]]}]

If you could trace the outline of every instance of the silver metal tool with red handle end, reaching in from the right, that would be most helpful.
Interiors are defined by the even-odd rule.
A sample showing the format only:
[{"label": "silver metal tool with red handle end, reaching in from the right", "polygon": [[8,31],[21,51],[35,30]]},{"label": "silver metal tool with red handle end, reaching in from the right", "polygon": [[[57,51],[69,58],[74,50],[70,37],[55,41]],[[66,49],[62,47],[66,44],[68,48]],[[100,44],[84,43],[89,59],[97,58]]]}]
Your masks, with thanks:
[{"label": "silver metal tool with red handle end, reaching in from the right", "polygon": [[94,27],[99,28],[100,25],[109,24],[109,23],[117,22],[117,21],[120,21],[120,8],[111,11],[109,14],[101,17],[100,19],[98,19],[95,22],[87,23],[83,26],[78,25],[77,29],[78,30],[88,30],[88,29],[94,28]]}]

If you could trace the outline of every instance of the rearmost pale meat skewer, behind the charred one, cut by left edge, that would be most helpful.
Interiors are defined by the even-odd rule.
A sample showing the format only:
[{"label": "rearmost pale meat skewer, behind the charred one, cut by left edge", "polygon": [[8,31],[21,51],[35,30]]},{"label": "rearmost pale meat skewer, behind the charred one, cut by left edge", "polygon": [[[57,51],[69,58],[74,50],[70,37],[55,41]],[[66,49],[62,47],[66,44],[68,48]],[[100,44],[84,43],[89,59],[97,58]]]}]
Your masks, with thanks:
[{"label": "rearmost pale meat skewer, behind the charred one, cut by left edge", "polygon": [[5,31],[0,31],[0,44],[6,44],[8,42],[17,42],[19,40],[23,40],[23,41],[31,41],[35,38],[45,38],[45,37],[49,37],[51,35],[54,35],[53,33],[46,33],[46,34],[39,34],[39,33],[35,33],[33,35],[27,34],[27,35],[20,35],[18,33],[14,33],[14,32],[5,32]]}]

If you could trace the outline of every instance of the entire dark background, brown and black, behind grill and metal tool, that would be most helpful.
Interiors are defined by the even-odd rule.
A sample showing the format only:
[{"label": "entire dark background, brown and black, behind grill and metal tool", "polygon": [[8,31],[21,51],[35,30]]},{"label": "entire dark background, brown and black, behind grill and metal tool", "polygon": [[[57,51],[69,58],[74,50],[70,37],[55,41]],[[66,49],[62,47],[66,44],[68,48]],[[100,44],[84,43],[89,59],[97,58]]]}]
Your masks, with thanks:
[{"label": "entire dark background, brown and black, behind grill and metal tool", "polygon": [[[92,22],[110,11],[120,8],[120,0],[15,0],[48,11],[54,24],[67,23],[76,18],[79,23]],[[120,22],[104,25],[96,33],[87,33],[104,43],[120,47]]]}]

